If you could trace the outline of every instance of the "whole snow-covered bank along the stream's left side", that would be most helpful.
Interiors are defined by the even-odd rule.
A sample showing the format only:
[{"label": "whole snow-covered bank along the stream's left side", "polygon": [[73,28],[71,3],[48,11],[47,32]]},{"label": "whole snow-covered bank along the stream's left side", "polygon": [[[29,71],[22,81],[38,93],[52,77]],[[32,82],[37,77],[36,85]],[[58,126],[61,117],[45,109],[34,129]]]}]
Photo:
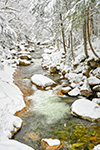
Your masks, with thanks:
[{"label": "whole snow-covered bank along the stream's left side", "polygon": [[21,118],[14,114],[25,107],[23,95],[13,83],[14,68],[0,64],[0,150],[32,150],[14,140],[9,140],[22,126]]}]

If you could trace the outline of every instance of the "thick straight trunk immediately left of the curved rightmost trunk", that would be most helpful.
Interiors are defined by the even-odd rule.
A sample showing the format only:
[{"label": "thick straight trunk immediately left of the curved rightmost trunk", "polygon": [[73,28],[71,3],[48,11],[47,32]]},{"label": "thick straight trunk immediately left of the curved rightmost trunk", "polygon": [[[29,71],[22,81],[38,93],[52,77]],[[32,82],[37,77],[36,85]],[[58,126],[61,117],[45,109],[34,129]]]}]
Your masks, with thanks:
[{"label": "thick straight trunk immediately left of the curved rightmost trunk", "polygon": [[88,58],[88,52],[87,52],[87,37],[86,37],[86,14],[84,13],[84,22],[83,22],[83,39],[84,39],[84,52],[86,55],[86,58]]}]

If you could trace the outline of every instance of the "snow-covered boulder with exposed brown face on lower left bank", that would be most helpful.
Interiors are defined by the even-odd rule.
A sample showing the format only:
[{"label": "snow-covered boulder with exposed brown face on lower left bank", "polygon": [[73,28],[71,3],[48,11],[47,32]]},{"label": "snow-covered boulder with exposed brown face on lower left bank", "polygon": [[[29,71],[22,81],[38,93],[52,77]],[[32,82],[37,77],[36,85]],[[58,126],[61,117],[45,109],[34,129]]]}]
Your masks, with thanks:
[{"label": "snow-covered boulder with exposed brown face on lower left bank", "polygon": [[19,117],[0,109],[0,140],[11,138],[12,133],[16,133],[21,126],[22,120]]}]

